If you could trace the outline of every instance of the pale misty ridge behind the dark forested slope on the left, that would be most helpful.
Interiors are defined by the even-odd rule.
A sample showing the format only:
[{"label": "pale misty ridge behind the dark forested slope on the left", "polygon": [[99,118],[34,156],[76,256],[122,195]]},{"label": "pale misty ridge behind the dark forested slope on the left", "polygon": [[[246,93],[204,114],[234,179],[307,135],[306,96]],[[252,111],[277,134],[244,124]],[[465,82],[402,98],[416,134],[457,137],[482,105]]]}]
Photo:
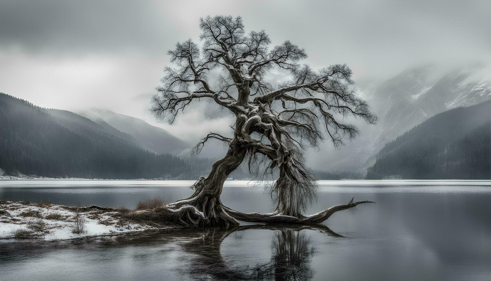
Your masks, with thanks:
[{"label": "pale misty ridge behind the dark forested slope on the left", "polygon": [[132,136],[138,146],[150,152],[177,155],[189,147],[185,142],[163,128],[152,126],[131,116],[99,109],[83,111],[81,115],[105,128],[115,128]]}]

